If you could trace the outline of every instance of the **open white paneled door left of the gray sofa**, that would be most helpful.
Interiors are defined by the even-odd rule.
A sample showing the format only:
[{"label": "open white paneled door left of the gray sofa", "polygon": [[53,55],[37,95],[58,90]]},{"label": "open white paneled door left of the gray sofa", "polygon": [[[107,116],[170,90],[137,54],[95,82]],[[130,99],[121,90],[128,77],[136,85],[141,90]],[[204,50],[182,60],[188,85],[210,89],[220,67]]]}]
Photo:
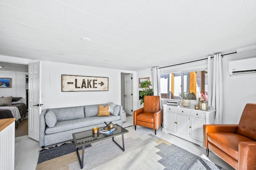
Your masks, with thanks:
[{"label": "open white paneled door left of the gray sofa", "polygon": [[28,137],[39,141],[41,114],[41,63],[28,64]]}]

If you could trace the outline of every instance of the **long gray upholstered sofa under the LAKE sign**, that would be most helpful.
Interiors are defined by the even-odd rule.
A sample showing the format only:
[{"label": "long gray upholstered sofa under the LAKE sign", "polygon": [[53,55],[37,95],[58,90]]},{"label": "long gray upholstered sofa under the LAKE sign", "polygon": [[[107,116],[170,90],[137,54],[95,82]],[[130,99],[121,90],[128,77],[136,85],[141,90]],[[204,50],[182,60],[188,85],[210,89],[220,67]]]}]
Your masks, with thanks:
[{"label": "long gray upholstered sofa under the LAKE sign", "polygon": [[[112,103],[108,103],[112,104]],[[108,104],[101,104],[106,107]],[[110,116],[98,117],[98,104],[44,109],[40,115],[40,147],[70,141],[72,133],[105,126],[104,121],[122,126],[122,106],[114,105]]]}]

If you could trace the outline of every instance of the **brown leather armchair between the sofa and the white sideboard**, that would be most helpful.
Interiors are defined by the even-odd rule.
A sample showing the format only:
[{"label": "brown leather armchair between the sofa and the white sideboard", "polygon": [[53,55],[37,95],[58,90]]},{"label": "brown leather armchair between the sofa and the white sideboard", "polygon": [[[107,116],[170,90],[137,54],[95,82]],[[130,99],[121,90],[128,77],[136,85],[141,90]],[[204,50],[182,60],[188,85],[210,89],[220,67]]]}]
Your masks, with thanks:
[{"label": "brown leather armchair between the sofa and the white sideboard", "polygon": [[144,107],[133,112],[133,124],[156,130],[163,122],[163,110],[160,109],[160,96],[145,96]]}]

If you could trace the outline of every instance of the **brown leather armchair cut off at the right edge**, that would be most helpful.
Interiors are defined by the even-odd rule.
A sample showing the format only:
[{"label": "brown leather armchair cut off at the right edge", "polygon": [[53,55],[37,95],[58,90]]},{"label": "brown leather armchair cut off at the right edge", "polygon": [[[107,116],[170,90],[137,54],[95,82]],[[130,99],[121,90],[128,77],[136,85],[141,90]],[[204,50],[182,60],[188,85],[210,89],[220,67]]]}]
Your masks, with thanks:
[{"label": "brown leather armchair cut off at the right edge", "polygon": [[246,104],[238,125],[204,125],[204,145],[236,170],[256,170],[256,104]]}]

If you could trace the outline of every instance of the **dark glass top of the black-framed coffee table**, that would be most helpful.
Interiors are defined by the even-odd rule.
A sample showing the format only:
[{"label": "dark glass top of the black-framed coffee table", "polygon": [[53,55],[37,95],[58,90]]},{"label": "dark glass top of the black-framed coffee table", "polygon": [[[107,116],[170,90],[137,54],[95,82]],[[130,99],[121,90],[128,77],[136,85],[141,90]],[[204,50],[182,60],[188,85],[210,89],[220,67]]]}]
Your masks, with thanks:
[{"label": "dark glass top of the black-framed coffee table", "polygon": [[121,127],[118,124],[114,124],[113,126],[116,127],[116,130],[113,133],[111,133],[110,135],[100,133],[100,131],[104,127],[100,127],[99,133],[96,133],[96,134],[92,133],[92,130],[73,133],[72,135],[73,135],[73,139],[74,139],[76,148],[84,146],[85,144],[89,145],[90,143],[94,143],[97,141],[104,140],[106,138],[114,137],[114,136],[129,132],[128,130],[124,129],[123,127]]}]

